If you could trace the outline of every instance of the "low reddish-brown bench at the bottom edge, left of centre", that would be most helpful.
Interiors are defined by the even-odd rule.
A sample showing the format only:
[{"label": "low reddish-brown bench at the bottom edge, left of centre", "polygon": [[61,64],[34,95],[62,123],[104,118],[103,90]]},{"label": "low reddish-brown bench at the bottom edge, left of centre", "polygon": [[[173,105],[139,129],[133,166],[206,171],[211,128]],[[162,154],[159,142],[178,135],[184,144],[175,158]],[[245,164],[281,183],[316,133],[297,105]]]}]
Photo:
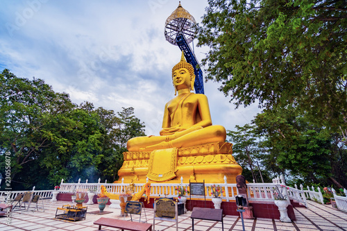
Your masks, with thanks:
[{"label": "low reddish-brown bench at the bottom edge, left of centre", "polygon": [[104,225],[112,228],[119,228],[121,230],[152,231],[152,225],[148,223],[123,221],[119,219],[110,219],[105,217],[101,217],[101,219],[94,221],[94,225],[99,225],[99,230],[101,230],[101,225]]}]

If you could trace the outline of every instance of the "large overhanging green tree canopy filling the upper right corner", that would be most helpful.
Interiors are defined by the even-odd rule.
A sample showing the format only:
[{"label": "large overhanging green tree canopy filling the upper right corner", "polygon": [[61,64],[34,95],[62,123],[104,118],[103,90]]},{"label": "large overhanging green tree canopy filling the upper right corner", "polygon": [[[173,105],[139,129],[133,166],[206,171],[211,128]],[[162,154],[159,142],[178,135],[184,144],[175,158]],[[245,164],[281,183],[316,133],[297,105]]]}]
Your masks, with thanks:
[{"label": "large overhanging green tree canopy filling the upper right corner", "polygon": [[334,132],[347,124],[343,0],[209,0],[198,45],[208,80],[236,105],[294,106]]}]

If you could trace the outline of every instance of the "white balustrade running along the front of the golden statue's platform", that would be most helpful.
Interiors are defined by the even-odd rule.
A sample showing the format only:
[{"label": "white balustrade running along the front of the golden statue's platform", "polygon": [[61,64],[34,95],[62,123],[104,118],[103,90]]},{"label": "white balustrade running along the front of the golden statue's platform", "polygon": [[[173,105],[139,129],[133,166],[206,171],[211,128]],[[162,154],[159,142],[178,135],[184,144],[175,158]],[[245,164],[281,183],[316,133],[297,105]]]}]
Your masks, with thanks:
[{"label": "white balustrade running along the front of the golden statue's platform", "polygon": [[[173,183],[151,183],[151,195],[152,197],[176,197],[177,192],[176,187],[187,187],[189,189],[189,184],[183,183],[183,178],[180,179],[180,184]],[[78,183],[64,183],[63,180],[60,183],[60,192],[62,193],[71,193],[73,191],[96,191],[100,192],[101,185],[105,186],[106,190],[112,194],[121,194],[126,191],[126,188],[129,184],[125,184],[122,180],[121,183],[101,183],[100,180],[98,183],[81,183],[81,180],[78,180]],[[213,196],[210,195],[210,187],[212,185],[219,185],[222,188],[223,194],[221,198],[230,201],[235,200],[235,196],[239,194],[236,184],[227,183],[227,178],[224,176],[223,184],[208,184],[205,183],[205,194],[207,199],[212,199]],[[273,183],[251,183],[247,184],[248,187],[248,200],[250,201],[271,201],[273,198],[273,189],[276,187]],[[143,184],[134,184],[134,191],[141,191]],[[191,198],[203,198],[203,196],[191,196]]]}]

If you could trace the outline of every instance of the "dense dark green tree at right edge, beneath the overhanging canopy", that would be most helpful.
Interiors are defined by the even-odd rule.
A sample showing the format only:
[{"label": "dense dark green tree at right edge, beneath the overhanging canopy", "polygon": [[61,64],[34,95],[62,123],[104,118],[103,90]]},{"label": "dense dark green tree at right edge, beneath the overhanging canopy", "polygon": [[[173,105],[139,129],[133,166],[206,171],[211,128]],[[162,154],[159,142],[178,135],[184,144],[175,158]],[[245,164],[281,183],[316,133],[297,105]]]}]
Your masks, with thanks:
[{"label": "dense dark green tree at right edge, beneath the overhanging canopy", "polygon": [[346,184],[346,146],[334,139],[337,134],[314,126],[295,109],[265,110],[254,123],[255,132],[263,137],[260,146],[266,150],[262,160],[267,169],[277,174],[287,170],[310,183]]}]

